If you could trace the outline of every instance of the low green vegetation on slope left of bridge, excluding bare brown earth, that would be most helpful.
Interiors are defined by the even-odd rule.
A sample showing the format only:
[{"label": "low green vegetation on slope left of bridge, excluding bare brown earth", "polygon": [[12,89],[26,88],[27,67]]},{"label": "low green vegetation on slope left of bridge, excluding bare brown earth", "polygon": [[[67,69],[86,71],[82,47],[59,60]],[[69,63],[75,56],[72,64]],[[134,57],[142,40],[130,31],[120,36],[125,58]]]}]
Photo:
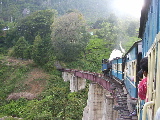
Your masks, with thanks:
[{"label": "low green vegetation on slope left of bridge, excluding bare brown earth", "polygon": [[[1,59],[5,60],[5,59]],[[70,119],[80,120],[87,100],[87,88],[77,93],[70,93],[69,83],[63,82],[61,74],[54,70],[46,80],[46,89],[38,99],[6,101],[11,92],[22,92],[30,88],[25,86],[27,73],[32,71],[32,64],[8,66],[0,64],[0,111],[3,115],[21,117],[26,120]],[[53,74],[54,73],[54,74]],[[6,81],[7,79],[7,81]]]}]

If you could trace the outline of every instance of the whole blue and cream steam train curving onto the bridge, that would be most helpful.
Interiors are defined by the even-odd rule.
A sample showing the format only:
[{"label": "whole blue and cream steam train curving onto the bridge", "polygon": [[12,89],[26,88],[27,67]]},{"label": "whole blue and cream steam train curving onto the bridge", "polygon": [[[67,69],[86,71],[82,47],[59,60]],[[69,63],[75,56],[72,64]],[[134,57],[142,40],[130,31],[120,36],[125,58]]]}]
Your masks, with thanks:
[{"label": "whole blue and cream steam train curving onto the bridge", "polygon": [[[144,0],[138,37],[140,40],[122,57],[103,59],[102,72],[117,81],[113,82],[113,90],[118,84],[125,89],[127,108],[131,114],[136,113],[135,119],[160,120],[160,0]],[[137,73],[141,70],[140,61],[145,57],[148,58],[147,94],[146,99],[141,100],[138,96],[141,80]]]}]

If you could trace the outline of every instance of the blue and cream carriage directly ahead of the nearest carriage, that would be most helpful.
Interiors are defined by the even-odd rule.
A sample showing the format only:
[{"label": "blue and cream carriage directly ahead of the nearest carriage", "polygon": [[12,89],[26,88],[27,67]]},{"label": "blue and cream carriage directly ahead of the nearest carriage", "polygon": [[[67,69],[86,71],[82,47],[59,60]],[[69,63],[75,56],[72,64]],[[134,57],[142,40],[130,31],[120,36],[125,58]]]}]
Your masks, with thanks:
[{"label": "blue and cream carriage directly ahead of the nearest carriage", "polygon": [[136,77],[140,70],[139,62],[142,58],[142,41],[137,41],[124,55],[124,83],[131,98],[137,98],[139,79]]}]

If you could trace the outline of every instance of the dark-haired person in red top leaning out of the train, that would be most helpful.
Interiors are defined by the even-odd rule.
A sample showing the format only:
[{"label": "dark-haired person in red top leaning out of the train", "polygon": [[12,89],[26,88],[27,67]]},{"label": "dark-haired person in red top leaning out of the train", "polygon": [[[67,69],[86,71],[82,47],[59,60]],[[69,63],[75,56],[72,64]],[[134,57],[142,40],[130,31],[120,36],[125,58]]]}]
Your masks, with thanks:
[{"label": "dark-haired person in red top leaning out of the train", "polygon": [[140,61],[140,67],[142,69],[144,78],[139,82],[138,85],[138,96],[141,100],[146,99],[147,94],[147,75],[148,75],[148,58],[145,57]]}]

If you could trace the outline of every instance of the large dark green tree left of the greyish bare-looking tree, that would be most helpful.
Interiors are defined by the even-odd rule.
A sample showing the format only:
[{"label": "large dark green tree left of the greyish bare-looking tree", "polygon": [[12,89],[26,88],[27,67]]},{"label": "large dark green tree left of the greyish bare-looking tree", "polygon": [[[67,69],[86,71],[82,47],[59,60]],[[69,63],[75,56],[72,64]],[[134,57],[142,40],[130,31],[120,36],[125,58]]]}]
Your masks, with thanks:
[{"label": "large dark green tree left of the greyish bare-looking tree", "polygon": [[51,33],[50,26],[55,14],[54,10],[41,10],[27,16],[17,25],[18,34],[31,44],[37,35],[45,38]]}]

